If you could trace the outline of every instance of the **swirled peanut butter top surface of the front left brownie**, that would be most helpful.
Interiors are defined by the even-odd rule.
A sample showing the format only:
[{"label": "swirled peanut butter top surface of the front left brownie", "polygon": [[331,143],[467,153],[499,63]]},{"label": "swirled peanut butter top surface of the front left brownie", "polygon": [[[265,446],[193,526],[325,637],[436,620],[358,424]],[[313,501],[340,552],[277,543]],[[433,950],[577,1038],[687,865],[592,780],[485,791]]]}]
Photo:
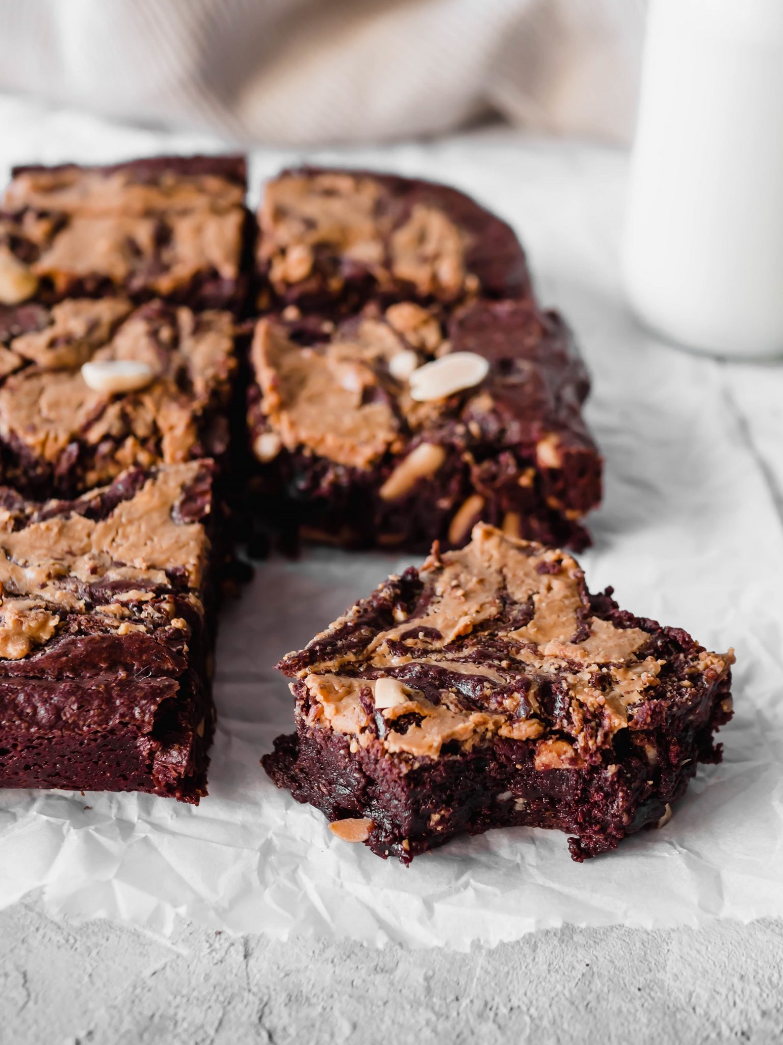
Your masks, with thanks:
[{"label": "swirled peanut butter top surface of the front left brownie", "polygon": [[[210,463],[193,461],[128,470],[72,502],[0,487],[0,676],[73,674],[74,651],[86,674],[110,652],[127,670],[150,635],[183,647],[203,612],[211,483]],[[152,674],[170,658],[145,653]]]}]

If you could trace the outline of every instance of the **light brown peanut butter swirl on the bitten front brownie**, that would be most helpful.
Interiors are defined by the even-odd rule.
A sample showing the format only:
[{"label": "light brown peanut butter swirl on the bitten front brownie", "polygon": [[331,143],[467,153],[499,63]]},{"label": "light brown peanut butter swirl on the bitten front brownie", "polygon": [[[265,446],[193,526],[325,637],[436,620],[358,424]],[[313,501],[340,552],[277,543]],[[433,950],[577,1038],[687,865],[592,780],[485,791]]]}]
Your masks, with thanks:
[{"label": "light brown peanut butter swirl on the bitten front brownie", "polygon": [[[576,768],[595,741],[578,733],[570,741],[562,736],[545,739],[548,727],[539,717],[537,684],[549,678],[567,687],[572,704],[584,709],[574,714],[574,721],[587,712],[598,717],[603,738],[599,742],[625,727],[628,709],[659,684],[663,661],[643,655],[649,634],[594,617],[583,572],[564,552],[478,524],[470,544],[430,557],[420,577],[426,594],[421,611],[399,612],[399,623],[376,634],[362,650],[302,673],[313,723],[350,735],[360,746],[380,743],[390,753],[414,758],[437,758],[446,744],[471,746],[492,736],[537,741],[538,768]],[[509,600],[531,608],[526,624],[504,623]],[[487,642],[496,644],[489,659],[478,655]],[[715,670],[726,671],[730,664],[727,655]],[[443,669],[435,676],[443,679],[449,678],[445,672],[474,676],[471,706],[466,706],[459,687],[448,681],[437,683],[437,702],[431,693],[428,697],[418,690],[417,666]],[[379,676],[394,678],[400,689],[390,700],[384,687],[375,712],[376,726],[379,715],[385,722],[381,730],[366,710]],[[526,715],[520,715],[513,686],[523,676],[532,683],[525,695]],[[505,699],[499,700],[498,694],[504,693]],[[485,710],[476,707],[484,699],[492,703]],[[406,728],[395,728],[397,720],[410,715],[416,718]]]}]

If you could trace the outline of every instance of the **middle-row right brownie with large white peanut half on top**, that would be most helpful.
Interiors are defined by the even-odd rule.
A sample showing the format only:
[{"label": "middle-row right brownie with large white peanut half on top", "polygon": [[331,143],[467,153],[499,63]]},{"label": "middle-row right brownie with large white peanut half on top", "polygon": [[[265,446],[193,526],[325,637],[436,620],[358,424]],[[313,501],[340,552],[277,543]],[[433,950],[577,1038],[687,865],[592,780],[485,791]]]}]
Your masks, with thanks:
[{"label": "middle-row right brownie with large white peanut half on top", "polygon": [[259,322],[250,425],[267,513],[348,545],[460,545],[478,519],[588,542],[601,459],[589,381],[554,312],[476,301],[444,326],[413,302],[336,328]]}]

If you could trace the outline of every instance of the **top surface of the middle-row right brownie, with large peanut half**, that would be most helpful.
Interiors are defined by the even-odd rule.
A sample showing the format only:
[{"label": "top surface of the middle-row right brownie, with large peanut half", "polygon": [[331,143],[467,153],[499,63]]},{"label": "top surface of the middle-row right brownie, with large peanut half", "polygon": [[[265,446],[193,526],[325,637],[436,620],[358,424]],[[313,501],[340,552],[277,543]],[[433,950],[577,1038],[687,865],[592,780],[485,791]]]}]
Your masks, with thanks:
[{"label": "top surface of the middle-row right brownie, with large peanut half", "polygon": [[267,429],[257,437],[262,460],[285,447],[369,469],[411,442],[433,454],[448,443],[522,446],[548,467],[566,448],[595,452],[570,333],[530,302],[475,302],[448,328],[410,301],[336,328],[267,318],[252,358]]}]

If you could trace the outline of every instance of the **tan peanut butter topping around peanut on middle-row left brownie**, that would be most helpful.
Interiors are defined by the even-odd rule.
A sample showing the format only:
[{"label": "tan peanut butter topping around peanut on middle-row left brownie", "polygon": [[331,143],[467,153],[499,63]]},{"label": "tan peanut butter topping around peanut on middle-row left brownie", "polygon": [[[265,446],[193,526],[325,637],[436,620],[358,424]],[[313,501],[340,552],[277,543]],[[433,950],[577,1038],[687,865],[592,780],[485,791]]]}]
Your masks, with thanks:
[{"label": "tan peanut butter topping around peanut on middle-row left brownie", "polygon": [[[135,464],[186,461],[205,451],[203,416],[228,402],[233,333],[228,312],[155,305],[132,311],[127,301],[111,298],[64,301],[44,329],[9,342],[8,351],[29,365],[0,387],[0,434],[52,464],[79,444],[86,487]],[[152,379],[122,394],[88,386],[86,363],[121,361],[144,365]]]}]

